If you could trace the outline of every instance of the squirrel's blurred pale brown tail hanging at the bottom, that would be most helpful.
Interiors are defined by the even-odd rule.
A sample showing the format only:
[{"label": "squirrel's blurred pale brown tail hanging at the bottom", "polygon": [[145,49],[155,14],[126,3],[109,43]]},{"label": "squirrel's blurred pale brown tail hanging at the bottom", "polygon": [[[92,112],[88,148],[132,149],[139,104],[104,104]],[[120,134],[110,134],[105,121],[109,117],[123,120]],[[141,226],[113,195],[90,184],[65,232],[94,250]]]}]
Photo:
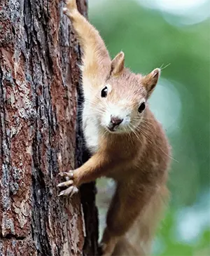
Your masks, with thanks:
[{"label": "squirrel's blurred pale brown tail hanging at the bottom", "polygon": [[112,256],[148,256],[162,210],[169,198],[167,187],[161,187],[130,231],[120,239]]}]

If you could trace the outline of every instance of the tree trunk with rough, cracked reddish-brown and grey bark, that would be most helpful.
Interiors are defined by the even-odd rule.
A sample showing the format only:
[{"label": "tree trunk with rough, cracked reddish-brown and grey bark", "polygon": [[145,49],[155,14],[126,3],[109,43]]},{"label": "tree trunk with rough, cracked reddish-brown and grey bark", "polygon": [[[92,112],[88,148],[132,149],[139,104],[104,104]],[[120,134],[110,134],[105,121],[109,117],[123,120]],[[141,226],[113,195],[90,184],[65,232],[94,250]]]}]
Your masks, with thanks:
[{"label": "tree trunk with rough, cracked reddish-brown and grey bark", "polygon": [[[83,154],[80,50],[59,0],[0,3],[0,255],[97,253],[94,184],[59,198]],[[85,0],[78,1],[86,13]],[[77,99],[78,102],[77,102]]]}]

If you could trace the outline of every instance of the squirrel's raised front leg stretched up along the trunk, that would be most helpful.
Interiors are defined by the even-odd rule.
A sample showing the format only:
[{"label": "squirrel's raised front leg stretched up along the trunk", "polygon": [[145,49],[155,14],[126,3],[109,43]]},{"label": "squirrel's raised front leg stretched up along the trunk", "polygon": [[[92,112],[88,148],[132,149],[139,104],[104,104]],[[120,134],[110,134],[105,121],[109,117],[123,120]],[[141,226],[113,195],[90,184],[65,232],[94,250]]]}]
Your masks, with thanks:
[{"label": "squirrel's raised front leg stretched up along the trunk", "polygon": [[[76,37],[83,51],[83,86],[98,86],[110,72],[111,59],[97,29],[79,13],[76,0],[66,0],[64,13],[71,20]],[[87,86],[88,88],[90,86]]]}]

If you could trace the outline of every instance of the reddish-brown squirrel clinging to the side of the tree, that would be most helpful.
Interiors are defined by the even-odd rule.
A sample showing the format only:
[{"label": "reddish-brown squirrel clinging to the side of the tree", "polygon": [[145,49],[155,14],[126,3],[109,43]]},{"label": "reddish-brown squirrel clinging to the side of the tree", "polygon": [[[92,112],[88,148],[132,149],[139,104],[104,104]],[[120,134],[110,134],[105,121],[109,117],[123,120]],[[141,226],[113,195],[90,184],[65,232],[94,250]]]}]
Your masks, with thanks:
[{"label": "reddish-brown squirrel clinging to the side of the tree", "polygon": [[134,74],[125,54],[113,60],[97,29],[66,0],[82,49],[83,133],[90,159],[76,170],[59,173],[59,196],[72,196],[81,184],[99,177],[116,182],[100,248],[103,256],[142,256],[151,243],[169,199],[167,177],[171,149],[161,124],[148,107],[161,70]]}]

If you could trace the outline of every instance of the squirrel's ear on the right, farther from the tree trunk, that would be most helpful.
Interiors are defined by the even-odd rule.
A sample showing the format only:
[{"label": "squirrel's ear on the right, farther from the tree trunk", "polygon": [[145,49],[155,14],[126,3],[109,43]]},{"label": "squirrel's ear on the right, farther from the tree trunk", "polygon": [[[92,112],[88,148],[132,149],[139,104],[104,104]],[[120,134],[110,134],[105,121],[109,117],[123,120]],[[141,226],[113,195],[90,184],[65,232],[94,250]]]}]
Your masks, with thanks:
[{"label": "squirrel's ear on the right, farther from the tree trunk", "polygon": [[148,92],[148,97],[153,92],[156,84],[158,83],[158,79],[160,77],[160,69],[154,69],[150,74],[143,77],[143,85]]}]

